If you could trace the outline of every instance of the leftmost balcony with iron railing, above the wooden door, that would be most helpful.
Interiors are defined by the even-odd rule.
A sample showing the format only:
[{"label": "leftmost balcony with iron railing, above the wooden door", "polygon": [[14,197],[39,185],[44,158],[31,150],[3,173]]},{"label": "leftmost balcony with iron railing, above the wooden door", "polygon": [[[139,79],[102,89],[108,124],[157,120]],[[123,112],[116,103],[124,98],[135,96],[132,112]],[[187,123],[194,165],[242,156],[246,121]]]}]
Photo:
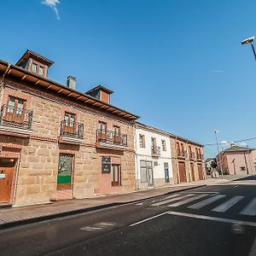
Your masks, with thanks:
[{"label": "leftmost balcony with iron railing, above the wooden door", "polygon": [[0,133],[15,137],[30,137],[33,111],[3,105],[0,113]]}]

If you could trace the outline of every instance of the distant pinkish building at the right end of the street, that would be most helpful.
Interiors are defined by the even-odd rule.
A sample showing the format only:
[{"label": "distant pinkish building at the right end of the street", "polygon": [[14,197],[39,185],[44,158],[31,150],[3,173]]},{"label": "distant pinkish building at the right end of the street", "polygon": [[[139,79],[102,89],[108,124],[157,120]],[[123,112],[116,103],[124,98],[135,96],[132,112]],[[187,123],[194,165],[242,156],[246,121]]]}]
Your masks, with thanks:
[{"label": "distant pinkish building at the right end of the street", "polygon": [[[243,148],[232,145],[218,154],[218,169],[224,174],[230,175],[252,175],[255,174],[253,148]],[[220,157],[219,157],[220,156]],[[221,162],[219,162],[219,159]]]}]

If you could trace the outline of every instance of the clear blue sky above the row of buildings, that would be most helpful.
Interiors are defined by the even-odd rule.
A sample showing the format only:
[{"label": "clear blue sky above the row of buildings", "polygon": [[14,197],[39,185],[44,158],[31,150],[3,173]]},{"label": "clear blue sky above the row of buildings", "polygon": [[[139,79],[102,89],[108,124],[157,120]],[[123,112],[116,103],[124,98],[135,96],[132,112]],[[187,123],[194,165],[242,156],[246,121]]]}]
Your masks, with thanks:
[{"label": "clear blue sky above the row of buildings", "polygon": [[256,61],[240,44],[256,35],[255,1],[59,2],[1,3],[0,58],[37,51],[55,61],[50,79],[103,84],[141,122],[200,143],[214,143],[216,129],[219,141],[256,137]]}]

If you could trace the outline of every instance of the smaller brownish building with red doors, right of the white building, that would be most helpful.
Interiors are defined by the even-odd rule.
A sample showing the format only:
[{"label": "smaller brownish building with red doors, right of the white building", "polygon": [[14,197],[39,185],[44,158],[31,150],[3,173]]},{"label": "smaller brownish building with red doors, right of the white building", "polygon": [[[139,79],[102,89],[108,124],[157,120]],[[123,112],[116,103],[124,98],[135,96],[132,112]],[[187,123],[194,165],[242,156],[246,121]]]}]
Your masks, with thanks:
[{"label": "smaller brownish building with red doors, right of the white building", "polygon": [[171,152],[174,183],[186,183],[206,178],[201,144],[172,134]]}]

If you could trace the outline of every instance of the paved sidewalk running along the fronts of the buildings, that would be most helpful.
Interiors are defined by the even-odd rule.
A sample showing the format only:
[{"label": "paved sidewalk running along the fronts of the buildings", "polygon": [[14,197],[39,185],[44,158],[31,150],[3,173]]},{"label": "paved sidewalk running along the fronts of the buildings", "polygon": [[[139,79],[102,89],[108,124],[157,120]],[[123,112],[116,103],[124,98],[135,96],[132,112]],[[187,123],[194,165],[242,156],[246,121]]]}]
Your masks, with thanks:
[{"label": "paved sidewalk running along the fronts of the buildings", "polygon": [[134,201],[141,201],[160,195],[195,189],[207,185],[228,183],[232,180],[233,179],[213,179],[211,177],[207,177],[206,180],[197,182],[178,183],[166,187],[138,190],[125,194],[102,195],[81,200],[73,199],[68,201],[55,201],[52,204],[34,207],[0,208],[0,230],[19,224],[30,224],[52,218],[61,218],[80,212],[90,212],[97,209],[118,206]]}]

